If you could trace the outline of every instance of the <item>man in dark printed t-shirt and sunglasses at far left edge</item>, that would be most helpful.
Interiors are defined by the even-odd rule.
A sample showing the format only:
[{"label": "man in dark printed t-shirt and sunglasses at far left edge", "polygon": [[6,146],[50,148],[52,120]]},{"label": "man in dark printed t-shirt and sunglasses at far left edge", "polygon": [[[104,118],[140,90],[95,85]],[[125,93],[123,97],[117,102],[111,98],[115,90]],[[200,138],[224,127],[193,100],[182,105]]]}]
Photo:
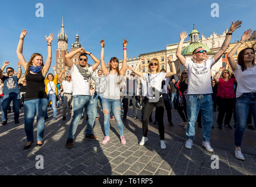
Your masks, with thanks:
[{"label": "man in dark printed t-shirt and sunglasses at far left edge", "polygon": [[9,65],[9,62],[5,62],[0,70],[0,78],[4,82],[4,99],[2,101],[2,125],[7,124],[7,110],[11,101],[13,101],[13,110],[14,110],[14,121],[19,123],[19,101],[20,101],[20,91],[18,86],[18,80],[22,74],[20,67],[20,62],[18,62],[19,73],[17,76],[13,76],[13,68],[6,68],[7,76],[4,76],[2,72],[5,67]]}]

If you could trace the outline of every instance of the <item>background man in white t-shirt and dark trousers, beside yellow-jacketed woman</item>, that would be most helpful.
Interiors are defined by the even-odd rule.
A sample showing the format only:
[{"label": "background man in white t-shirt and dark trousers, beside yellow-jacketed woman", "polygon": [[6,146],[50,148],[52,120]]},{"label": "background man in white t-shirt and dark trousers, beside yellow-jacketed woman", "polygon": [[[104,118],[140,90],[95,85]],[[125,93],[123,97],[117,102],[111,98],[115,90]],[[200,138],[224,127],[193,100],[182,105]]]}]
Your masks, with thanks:
[{"label": "background man in white t-shirt and dark trousers, beside yellow-jacketed woman", "polygon": [[71,81],[71,75],[67,75],[66,76],[67,81],[63,81],[61,77],[64,74],[64,72],[65,70],[61,71],[61,74],[58,75],[58,81],[60,81],[60,83],[63,86],[64,95],[63,95],[63,115],[62,116],[63,116],[63,120],[66,120],[68,105],[72,106],[73,82]]}]

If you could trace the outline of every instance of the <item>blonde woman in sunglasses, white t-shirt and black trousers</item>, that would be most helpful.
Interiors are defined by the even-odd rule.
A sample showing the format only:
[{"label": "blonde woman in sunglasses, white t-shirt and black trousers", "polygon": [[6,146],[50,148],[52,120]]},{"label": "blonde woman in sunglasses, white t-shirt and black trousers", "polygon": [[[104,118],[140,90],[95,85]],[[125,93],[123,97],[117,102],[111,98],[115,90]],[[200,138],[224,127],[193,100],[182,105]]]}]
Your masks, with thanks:
[{"label": "blonde woman in sunglasses, white t-shirt and black trousers", "polygon": [[133,70],[135,74],[143,77],[147,81],[147,97],[142,119],[143,137],[141,138],[140,146],[143,146],[148,140],[148,117],[155,107],[155,119],[157,119],[158,123],[160,146],[162,149],[166,148],[164,143],[164,99],[162,98],[161,93],[162,81],[164,81],[165,78],[176,74],[174,61],[168,61],[168,64],[170,65],[171,72],[160,72],[161,67],[157,58],[150,60],[150,63],[148,64],[149,73],[142,73],[138,71],[140,63],[138,63],[136,68]]}]

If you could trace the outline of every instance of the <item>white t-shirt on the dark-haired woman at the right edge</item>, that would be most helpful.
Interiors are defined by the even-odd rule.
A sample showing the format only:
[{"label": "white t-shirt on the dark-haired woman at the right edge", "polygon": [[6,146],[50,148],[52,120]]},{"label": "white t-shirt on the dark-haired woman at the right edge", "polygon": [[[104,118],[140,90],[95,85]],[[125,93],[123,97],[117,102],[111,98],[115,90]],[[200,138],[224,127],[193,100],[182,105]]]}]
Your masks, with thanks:
[{"label": "white t-shirt on the dark-haired woman at the right edge", "polygon": [[246,68],[246,70],[242,71],[241,65],[237,64],[234,76],[237,80],[236,98],[243,93],[256,92],[256,65],[253,68]]}]

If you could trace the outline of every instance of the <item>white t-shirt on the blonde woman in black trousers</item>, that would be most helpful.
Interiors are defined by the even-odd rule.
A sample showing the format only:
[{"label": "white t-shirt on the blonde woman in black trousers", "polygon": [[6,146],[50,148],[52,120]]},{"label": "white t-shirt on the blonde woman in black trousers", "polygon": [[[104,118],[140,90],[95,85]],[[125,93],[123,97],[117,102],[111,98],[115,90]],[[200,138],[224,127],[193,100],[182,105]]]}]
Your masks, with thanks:
[{"label": "white t-shirt on the blonde woman in black trousers", "polygon": [[[157,89],[159,92],[162,91],[162,81],[165,79],[166,72],[158,72],[157,74],[143,74],[143,78],[147,81],[147,98],[155,99],[152,93],[153,88]],[[161,96],[160,96],[161,97]]]}]

